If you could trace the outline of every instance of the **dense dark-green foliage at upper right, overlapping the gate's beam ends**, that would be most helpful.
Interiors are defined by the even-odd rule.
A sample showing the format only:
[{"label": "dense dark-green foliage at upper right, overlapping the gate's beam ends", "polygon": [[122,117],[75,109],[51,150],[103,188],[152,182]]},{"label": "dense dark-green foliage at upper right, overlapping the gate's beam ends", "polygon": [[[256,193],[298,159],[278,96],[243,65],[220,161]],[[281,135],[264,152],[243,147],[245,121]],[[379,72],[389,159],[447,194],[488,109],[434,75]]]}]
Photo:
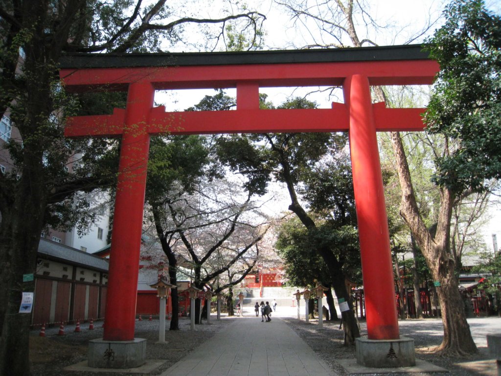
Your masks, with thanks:
[{"label": "dense dark-green foliage at upper right, overlapping the gate's beam ends", "polygon": [[434,177],[456,194],[501,177],[501,18],[481,0],[454,0],[428,40],[440,64],[425,114],[428,131],[457,140]]}]

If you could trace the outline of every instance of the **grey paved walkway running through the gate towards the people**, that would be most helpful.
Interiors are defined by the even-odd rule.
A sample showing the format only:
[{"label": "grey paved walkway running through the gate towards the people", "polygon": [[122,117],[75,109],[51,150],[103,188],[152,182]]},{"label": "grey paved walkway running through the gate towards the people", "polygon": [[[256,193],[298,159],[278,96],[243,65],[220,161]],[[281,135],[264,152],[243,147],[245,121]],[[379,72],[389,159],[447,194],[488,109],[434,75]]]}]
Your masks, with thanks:
[{"label": "grey paved walkway running through the gate towards the people", "polygon": [[280,318],[237,318],[161,376],[333,376]]}]

